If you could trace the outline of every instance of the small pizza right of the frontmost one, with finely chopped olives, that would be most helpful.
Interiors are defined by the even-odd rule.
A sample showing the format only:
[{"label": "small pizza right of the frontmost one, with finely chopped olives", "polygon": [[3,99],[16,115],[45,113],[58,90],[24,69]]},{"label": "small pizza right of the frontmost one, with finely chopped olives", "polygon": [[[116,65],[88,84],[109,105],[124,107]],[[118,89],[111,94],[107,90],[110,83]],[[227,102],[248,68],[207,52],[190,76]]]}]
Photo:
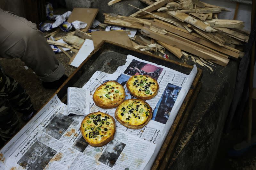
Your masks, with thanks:
[{"label": "small pizza right of the frontmost one, with finely chopped olives", "polygon": [[144,100],[128,99],[116,108],[115,117],[127,128],[141,129],[152,118],[152,108]]}]

